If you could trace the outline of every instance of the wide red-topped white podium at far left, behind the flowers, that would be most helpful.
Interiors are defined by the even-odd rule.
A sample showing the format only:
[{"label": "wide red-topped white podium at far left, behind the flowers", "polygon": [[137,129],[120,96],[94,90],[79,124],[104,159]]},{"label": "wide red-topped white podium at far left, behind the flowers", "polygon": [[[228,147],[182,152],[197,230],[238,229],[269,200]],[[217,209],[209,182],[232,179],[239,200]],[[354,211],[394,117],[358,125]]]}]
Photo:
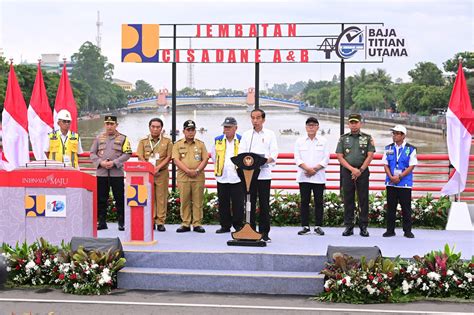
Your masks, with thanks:
[{"label": "wide red-topped white podium at far left, behind the flowers", "polygon": [[97,237],[95,176],[72,167],[0,171],[0,243]]}]

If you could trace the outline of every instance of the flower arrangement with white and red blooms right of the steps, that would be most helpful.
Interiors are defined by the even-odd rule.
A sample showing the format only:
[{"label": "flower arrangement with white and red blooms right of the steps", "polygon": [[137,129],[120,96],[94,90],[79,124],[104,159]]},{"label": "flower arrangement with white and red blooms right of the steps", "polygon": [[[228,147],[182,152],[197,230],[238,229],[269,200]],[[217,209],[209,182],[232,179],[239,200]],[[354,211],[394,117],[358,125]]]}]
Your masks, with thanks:
[{"label": "flower arrangement with white and red blooms right of the steps", "polygon": [[321,271],[326,276],[320,301],[408,302],[426,297],[473,298],[474,260],[464,262],[448,245],[414,260],[379,257],[360,261],[335,253]]}]

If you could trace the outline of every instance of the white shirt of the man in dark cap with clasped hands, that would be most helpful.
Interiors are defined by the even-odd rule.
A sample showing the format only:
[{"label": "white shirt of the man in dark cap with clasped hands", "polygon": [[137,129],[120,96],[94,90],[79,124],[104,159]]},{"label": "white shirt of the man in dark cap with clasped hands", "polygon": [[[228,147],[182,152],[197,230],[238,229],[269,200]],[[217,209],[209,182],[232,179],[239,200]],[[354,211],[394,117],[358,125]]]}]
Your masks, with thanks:
[{"label": "white shirt of the man in dark cap with clasped hands", "polygon": [[[321,136],[316,136],[311,140],[308,136],[300,137],[295,143],[295,163],[298,166],[298,173],[296,181],[298,183],[326,183],[326,170],[329,164],[329,146],[327,139]],[[318,164],[323,168],[316,172],[313,176],[307,176],[304,170],[299,167],[301,164],[306,164],[308,167],[314,168]]]}]

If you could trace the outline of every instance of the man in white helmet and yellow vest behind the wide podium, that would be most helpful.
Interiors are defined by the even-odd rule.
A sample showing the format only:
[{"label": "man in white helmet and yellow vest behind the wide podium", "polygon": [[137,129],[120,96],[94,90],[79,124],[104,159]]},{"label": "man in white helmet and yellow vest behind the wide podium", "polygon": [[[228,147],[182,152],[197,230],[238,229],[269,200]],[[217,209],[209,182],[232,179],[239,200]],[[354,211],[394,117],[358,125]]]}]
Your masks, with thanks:
[{"label": "man in white helmet and yellow vest behind the wide podium", "polygon": [[49,137],[49,159],[63,162],[75,168],[79,168],[79,157],[82,145],[79,135],[71,131],[71,113],[61,109],[58,113],[59,130],[53,130]]}]

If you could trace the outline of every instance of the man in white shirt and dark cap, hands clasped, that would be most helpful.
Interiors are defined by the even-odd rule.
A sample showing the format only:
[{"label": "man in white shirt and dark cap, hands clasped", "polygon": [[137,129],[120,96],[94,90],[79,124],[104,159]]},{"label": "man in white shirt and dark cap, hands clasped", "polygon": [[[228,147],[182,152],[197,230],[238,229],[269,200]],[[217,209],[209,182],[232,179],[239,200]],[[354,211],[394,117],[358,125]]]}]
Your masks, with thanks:
[{"label": "man in white shirt and dark cap, hands clasped", "polygon": [[329,164],[329,146],[326,138],[318,136],[319,121],[315,117],[306,120],[307,136],[298,138],[295,143],[295,163],[298,166],[296,181],[300,186],[301,226],[298,235],[311,232],[309,228],[309,203],[311,192],[314,195],[315,228],[314,232],[324,235],[323,193],[326,185],[326,167]]}]

